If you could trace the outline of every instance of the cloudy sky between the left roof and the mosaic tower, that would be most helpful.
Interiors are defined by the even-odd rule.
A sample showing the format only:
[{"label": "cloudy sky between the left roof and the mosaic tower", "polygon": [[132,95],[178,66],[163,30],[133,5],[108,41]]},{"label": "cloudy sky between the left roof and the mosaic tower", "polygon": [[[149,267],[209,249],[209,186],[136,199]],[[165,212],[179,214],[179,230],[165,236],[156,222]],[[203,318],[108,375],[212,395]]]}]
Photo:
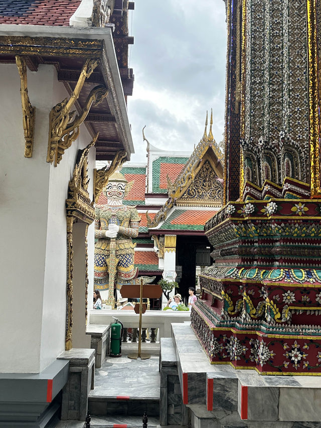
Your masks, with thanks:
[{"label": "cloudy sky between the left roof and the mosaic tower", "polygon": [[146,143],[193,151],[213,108],[213,134],[224,130],[226,22],[223,0],[135,0],[129,13],[134,36],[129,66],[135,81],[128,97],[135,154],[145,162]]}]

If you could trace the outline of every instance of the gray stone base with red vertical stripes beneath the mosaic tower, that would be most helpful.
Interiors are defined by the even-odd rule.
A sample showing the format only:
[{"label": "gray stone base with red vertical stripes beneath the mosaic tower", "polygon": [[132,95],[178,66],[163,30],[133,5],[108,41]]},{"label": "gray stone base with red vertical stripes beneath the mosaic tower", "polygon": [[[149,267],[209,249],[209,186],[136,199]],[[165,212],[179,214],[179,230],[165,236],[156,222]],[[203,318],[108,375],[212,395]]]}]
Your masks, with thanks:
[{"label": "gray stone base with red vertical stripes beneath the mosaic tower", "polygon": [[[321,377],[262,376],[226,364],[211,365],[190,325],[172,324],[172,331],[174,348],[169,351],[169,343],[161,343],[161,373],[165,376],[177,365],[192,428],[321,427]],[[167,376],[161,383],[162,424],[170,423],[165,409],[173,391]]]}]

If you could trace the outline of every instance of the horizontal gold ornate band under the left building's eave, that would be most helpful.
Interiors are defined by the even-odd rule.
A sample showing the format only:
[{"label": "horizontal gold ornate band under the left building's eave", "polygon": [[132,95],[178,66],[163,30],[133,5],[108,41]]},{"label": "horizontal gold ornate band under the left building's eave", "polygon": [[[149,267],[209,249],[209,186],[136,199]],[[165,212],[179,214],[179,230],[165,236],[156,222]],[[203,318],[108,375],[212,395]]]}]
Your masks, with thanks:
[{"label": "horizontal gold ornate band under the left building's eave", "polygon": [[101,57],[103,40],[67,37],[0,36],[2,55],[40,55],[49,57]]}]

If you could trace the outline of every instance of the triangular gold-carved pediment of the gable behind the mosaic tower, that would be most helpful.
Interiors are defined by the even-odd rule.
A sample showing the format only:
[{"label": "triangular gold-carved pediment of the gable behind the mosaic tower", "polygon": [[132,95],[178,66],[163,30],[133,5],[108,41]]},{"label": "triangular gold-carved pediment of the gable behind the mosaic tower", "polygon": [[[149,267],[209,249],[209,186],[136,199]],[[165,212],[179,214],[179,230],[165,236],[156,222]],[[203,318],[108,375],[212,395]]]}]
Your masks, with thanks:
[{"label": "triangular gold-carved pediment of the gable behind the mosaic tower", "polygon": [[178,206],[221,206],[222,201],[223,186],[217,179],[213,166],[206,159],[176,204]]}]

